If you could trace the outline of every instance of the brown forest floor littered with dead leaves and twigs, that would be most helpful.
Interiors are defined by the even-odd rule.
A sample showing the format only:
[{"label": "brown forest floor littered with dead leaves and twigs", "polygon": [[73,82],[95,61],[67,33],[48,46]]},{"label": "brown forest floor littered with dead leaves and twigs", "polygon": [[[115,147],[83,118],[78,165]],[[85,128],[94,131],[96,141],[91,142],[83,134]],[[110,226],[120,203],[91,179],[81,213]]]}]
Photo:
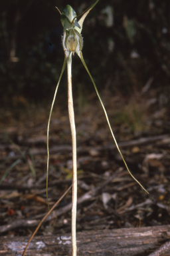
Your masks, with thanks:
[{"label": "brown forest floor littered with dead leaves and twigs", "polygon": [[[78,154],[77,231],[147,227],[170,222],[170,111],[159,89],[127,100],[102,95],[114,135],[131,173],[116,149],[95,95],[75,103]],[[88,101],[88,103],[87,103]],[[70,125],[62,100],[50,122],[48,198],[50,207],[72,183]],[[28,236],[47,213],[46,127],[50,106],[18,120],[3,113],[0,126],[0,234]],[[15,115],[19,109],[15,110]],[[70,233],[72,191],[44,221],[37,235]]]}]

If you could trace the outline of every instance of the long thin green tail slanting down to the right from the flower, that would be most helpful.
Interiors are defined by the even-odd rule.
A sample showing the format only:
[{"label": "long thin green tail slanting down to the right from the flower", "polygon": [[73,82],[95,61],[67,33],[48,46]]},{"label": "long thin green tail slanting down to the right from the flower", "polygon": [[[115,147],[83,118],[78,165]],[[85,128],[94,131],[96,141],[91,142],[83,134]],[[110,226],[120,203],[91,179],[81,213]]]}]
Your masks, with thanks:
[{"label": "long thin green tail slanting down to the right from the flower", "polygon": [[92,75],[90,74],[90,71],[88,70],[88,67],[86,66],[86,63],[85,63],[85,61],[84,61],[84,58],[83,58],[83,56],[82,56],[82,52],[81,52],[81,51],[80,51],[80,54],[79,54],[78,56],[80,57],[80,59],[81,59],[83,65],[84,65],[86,71],[88,72],[88,75],[90,76],[90,78],[91,78],[91,80],[92,80],[92,83],[93,83],[93,85],[94,85],[94,89],[96,90],[96,93],[97,93],[97,95],[98,95],[98,99],[100,100],[100,103],[101,103],[101,105],[102,105],[102,108],[104,109],[104,114],[105,114],[105,116],[106,116],[106,120],[107,120],[107,122],[108,122],[108,126],[109,126],[109,128],[110,128],[111,133],[112,133],[112,137],[113,137],[114,142],[115,142],[115,144],[116,144],[116,147],[117,147],[117,149],[118,149],[118,151],[119,151],[119,153],[120,153],[120,155],[121,155],[121,157],[122,157],[122,160],[124,161],[124,164],[125,164],[125,166],[126,166],[126,169],[128,170],[128,172],[129,172],[129,174],[131,175],[131,177],[142,187],[142,189],[143,189],[147,194],[149,194],[149,193],[146,191],[146,189],[141,185],[141,183],[139,183],[139,181],[137,181],[137,179],[135,179],[135,177],[134,177],[134,176],[131,174],[131,172],[129,171],[128,165],[127,165],[127,163],[126,163],[126,161],[125,161],[125,159],[124,159],[124,157],[123,157],[123,155],[122,155],[122,153],[121,153],[121,151],[120,151],[120,148],[119,148],[119,146],[118,146],[118,143],[117,143],[117,141],[116,141],[116,138],[114,137],[114,133],[113,133],[113,131],[112,131],[112,127],[111,127],[110,121],[109,121],[109,119],[108,119],[108,114],[107,114],[107,112],[106,112],[106,109],[105,109],[105,107],[104,107],[104,104],[102,103],[102,99],[100,98],[100,95],[99,95],[99,93],[98,93],[98,89],[97,89],[97,87],[96,87],[96,84],[94,83],[94,80],[93,80],[93,78],[92,78]]}]

